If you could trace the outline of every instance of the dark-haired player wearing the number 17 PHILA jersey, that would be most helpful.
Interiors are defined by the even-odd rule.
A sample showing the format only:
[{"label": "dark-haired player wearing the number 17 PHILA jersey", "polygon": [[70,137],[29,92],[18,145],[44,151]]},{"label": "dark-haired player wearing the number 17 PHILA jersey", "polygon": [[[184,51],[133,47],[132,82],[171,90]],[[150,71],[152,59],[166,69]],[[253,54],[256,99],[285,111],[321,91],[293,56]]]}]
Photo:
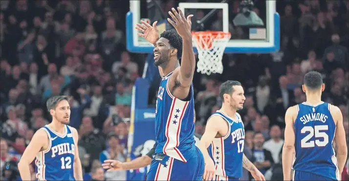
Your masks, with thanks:
[{"label": "dark-haired player wearing the number 17 PHILA jersey", "polygon": [[245,131],[237,113],[243,107],[243,93],[238,81],[226,81],[219,88],[222,107],[207,120],[199,145],[205,158],[205,181],[239,181],[242,167],[250,171],[256,181],[265,181],[263,174],[243,154]]}]

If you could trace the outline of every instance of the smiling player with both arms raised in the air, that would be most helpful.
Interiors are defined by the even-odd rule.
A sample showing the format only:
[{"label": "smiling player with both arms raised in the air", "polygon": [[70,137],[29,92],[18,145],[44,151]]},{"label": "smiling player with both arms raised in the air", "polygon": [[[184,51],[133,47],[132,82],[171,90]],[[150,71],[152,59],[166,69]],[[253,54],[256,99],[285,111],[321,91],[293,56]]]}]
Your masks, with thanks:
[{"label": "smiling player with both arms raised in the air", "polygon": [[[175,30],[164,31],[160,37],[156,27],[141,21],[136,29],[154,47],[154,64],[159,68],[160,83],[155,108],[155,141],[147,180],[200,180],[204,161],[195,146],[193,76],[195,56],[191,35],[191,17],[184,17],[177,8],[167,19]],[[179,58],[182,58],[179,66]]]}]

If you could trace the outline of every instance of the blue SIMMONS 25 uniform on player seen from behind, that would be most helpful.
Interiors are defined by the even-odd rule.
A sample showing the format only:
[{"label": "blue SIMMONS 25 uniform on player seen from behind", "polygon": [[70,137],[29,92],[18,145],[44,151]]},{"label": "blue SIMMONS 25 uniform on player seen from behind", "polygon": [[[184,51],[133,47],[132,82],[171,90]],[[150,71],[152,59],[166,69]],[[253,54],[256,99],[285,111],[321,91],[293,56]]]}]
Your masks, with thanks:
[{"label": "blue SIMMONS 25 uniform on player seen from behind", "polygon": [[296,108],[293,180],[340,180],[332,146],[336,125],[330,113],[330,104],[321,102],[310,105],[304,102],[296,105]]}]

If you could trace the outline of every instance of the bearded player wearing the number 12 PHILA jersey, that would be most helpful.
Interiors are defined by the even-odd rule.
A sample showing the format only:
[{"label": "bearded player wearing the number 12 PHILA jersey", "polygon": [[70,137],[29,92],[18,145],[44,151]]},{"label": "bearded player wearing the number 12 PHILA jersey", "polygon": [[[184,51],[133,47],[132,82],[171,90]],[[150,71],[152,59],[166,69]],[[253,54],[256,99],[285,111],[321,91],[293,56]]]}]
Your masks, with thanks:
[{"label": "bearded player wearing the number 12 PHILA jersey", "polygon": [[22,181],[30,181],[29,164],[35,160],[39,181],[82,181],[78,152],[78,132],[68,126],[70,106],[66,96],[54,96],[46,102],[52,122],[39,129],[25,149],[18,169]]}]

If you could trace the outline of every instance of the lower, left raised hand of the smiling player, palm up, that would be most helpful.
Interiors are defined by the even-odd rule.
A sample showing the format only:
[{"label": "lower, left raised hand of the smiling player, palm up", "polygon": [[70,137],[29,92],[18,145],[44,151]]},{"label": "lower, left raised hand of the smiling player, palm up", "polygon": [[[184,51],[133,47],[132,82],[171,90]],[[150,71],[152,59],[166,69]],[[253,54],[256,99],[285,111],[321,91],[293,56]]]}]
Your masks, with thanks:
[{"label": "lower, left raised hand of the smiling player, palm up", "polygon": [[149,43],[155,44],[159,39],[159,30],[156,27],[157,21],[153,23],[153,26],[143,20],[141,20],[141,23],[137,23],[136,29],[142,33],[137,33],[137,35],[145,38]]}]

